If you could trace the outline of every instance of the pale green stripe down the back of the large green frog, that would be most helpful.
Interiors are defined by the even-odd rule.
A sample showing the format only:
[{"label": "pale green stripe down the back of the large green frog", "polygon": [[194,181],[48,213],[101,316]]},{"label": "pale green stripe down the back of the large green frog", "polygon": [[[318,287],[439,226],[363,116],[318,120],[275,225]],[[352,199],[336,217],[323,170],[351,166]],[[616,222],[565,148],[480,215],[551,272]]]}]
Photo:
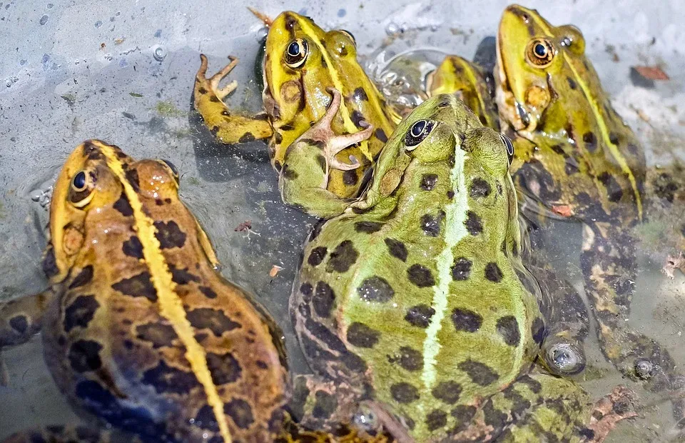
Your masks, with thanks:
[{"label": "pale green stripe down the back of the large green frog", "polygon": [[[458,143],[458,139],[457,139]],[[455,189],[452,202],[445,206],[445,247],[436,259],[437,284],[435,284],[432,308],[435,314],[430,319],[426,329],[426,338],[423,342],[423,372],[421,379],[425,389],[430,390],[435,385],[437,377],[436,357],[440,352],[440,340],[437,334],[442,329],[442,320],[447,310],[447,297],[450,295],[450,283],[452,282],[452,264],[455,261],[452,249],[466,235],[466,211],[469,209],[467,200],[466,180],[464,177],[464,164],[467,159],[466,152],[455,149],[455,166],[450,172],[450,182]]]}]

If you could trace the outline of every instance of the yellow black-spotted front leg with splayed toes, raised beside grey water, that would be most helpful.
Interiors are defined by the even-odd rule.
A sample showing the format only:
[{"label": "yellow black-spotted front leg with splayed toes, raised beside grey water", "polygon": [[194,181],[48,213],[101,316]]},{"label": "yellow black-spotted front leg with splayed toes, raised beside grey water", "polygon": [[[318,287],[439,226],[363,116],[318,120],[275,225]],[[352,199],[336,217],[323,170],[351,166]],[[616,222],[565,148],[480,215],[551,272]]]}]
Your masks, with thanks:
[{"label": "yellow black-spotted front leg with splayed toes, raised beside grey water", "polygon": [[232,81],[220,88],[219,82],[238,64],[238,59],[228,57],[230,63],[209,79],[207,74],[207,57],[200,54],[201,64],[195,79],[193,91],[195,109],[202,116],[205,125],[222,143],[235,144],[245,141],[267,139],[273,134],[268,115],[258,114],[249,117],[233,114],[223,102],[238,84]]}]

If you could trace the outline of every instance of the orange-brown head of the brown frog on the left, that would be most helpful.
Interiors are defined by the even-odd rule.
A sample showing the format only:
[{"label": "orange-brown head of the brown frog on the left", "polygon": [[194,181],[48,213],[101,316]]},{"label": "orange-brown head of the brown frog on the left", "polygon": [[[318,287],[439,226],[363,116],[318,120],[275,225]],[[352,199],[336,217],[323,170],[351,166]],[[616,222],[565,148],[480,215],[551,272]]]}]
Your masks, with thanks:
[{"label": "orange-brown head of the brown frog on the left", "polygon": [[[132,216],[131,194],[178,199],[178,172],[168,161],[133,161],[117,146],[88,140],[73,150],[57,177],[50,204],[50,244],[44,269],[66,277],[86,237],[88,214],[110,207]],[[139,201],[139,200],[138,200]]]}]

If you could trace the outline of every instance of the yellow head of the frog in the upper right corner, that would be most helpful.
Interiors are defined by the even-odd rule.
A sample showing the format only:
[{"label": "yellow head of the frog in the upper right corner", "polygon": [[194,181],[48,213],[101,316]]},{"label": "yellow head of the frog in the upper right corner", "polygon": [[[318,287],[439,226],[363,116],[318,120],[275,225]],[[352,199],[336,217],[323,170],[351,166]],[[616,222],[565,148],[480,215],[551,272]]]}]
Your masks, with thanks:
[{"label": "yellow head of the frog in the upper right corner", "polygon": [[517,131],[534,131],[557,96],[579,89],[569,60],[584,59],[585,40],[572,25],[552,26],[534,9],[511,5],[497,32],[497,104]]}]

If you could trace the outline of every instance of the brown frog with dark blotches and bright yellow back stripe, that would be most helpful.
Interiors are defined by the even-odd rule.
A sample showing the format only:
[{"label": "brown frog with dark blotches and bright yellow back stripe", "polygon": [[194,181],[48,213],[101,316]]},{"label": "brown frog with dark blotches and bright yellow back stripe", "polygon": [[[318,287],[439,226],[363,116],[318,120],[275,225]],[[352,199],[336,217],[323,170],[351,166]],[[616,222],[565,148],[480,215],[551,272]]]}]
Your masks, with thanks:
[{"label": "brown frog with dark blotches and bright yellow back stripe", "polygon": [[280,435],[290,396],[283,333],[253,296],[221,277],[178,186],[170,161],[135,161],[104,141],[85,141],[66,159],[42,262],[49,289],[0,306],[0,346],[40,330],[57,387],[91,427],[48,427],[9,441]]}]

